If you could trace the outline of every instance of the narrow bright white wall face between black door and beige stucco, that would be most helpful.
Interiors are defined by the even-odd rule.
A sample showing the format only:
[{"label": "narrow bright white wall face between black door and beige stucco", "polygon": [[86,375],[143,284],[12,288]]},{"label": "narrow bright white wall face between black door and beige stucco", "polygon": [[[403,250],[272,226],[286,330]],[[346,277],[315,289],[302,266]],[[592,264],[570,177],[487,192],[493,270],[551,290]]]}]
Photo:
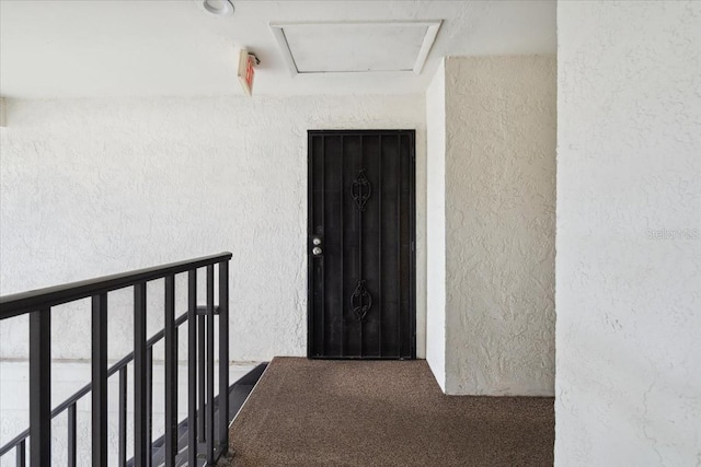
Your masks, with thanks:
[{"label": "narrow bright white wall face between black door and beige stucco", "polygon": [[426,360],[446,390],[446,71],[426,91]]}]

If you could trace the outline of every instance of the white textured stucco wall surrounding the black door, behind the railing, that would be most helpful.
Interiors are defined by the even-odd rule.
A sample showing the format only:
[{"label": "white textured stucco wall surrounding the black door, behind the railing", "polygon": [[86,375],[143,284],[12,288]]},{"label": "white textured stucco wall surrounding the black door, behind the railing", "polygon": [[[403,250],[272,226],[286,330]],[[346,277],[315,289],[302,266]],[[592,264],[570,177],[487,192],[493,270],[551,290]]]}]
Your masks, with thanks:
[{"label": "white textured stucco wall surrounding the black door, behind the railing", "polygon": [[[231,250],[233,360],[306,354],[307,130],[415,128],[417,351],[424,354],[423,95],[7,104],[0,293]],[[152,304],[162,287],[150,287]],[[185,288],[180,291],[184,311]],[[110,300],[110,354],[117,358],[130,350],[133,299],[127,291]],[[57,308],[55,358],[89,355],[89,313],[88,301]],[[26,354],[25,324],[0,324],[2,357]],[[156,308],[150,331],[161,324]]]}]

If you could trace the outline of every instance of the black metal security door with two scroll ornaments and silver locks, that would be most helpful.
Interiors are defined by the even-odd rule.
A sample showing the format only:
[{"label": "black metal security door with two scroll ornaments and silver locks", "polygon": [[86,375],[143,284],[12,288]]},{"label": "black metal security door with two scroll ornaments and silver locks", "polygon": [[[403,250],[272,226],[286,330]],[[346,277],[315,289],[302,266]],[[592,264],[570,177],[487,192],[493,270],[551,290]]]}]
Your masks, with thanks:
[{"label": "black metal security door with two scroll ornaments and silver locks", "polygon": [[309,131],[310,358],[413,359],[414,131]]}]

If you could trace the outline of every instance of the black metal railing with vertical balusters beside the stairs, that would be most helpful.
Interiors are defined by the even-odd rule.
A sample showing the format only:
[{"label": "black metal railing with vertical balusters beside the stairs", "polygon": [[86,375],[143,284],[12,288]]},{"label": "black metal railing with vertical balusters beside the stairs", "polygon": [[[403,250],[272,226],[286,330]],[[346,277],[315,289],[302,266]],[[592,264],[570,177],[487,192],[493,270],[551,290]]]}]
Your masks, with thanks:
[{"label": "black metal railing with vertical balusters beside the stairs", "polygon": [[[77,464],[77,402],[92,393],[92,465],[107,465],[107,378],[118,374],[118,465],[151,466],[153,345],[164,339],[165,428],[158,464],[214,465],[228,451],[229,260],[221,253],[186,261],[90,279],[0,297],[0,320],[28,315],[30,428],[4,446],[16,465],[51,464],[51,419],[68,410],[68,464]],[[219,296],[215,305],[215,266]],[[206,270],[206,306],[197,306],[197,270]],[[187,273],[187,312],[175,317],[175,276]],[[164,280],[164,328],[147,340],[147,285]],[[107,367],[107,294],[134,289],[134,352]],[[51,410],[51,307],[92,299],[92,381]],[[219,382],[215,392],[215,316],[218,315]],[[187,323],[187,439],[179,446],[177,330]],[[127,365],[134,364],[134,457],[127,459]],[[217,394],[215,394],[217,393]],[[223,397],[220,397],[223,395]],[[217,406],[217,415],[215,413]],[[183,444],[185,444],[183,446]]]}]

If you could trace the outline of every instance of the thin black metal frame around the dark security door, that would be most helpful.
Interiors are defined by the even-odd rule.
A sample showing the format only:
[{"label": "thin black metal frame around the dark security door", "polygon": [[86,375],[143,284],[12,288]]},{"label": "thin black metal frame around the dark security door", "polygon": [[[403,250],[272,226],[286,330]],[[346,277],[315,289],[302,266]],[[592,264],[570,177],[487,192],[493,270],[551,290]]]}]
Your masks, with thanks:
[{"label": "thin black metal frame around the dark security door", "polygon": [[313,342],[313,301],[312,296],[312,268],[311,268],[311,232],[313,231],[312,217],[312,163],[311,163],[311,139],[312,136],[360,136],[360,135],[405,135],[410,139],[410,164],[409,164],[409,235],[411,241],[410,264],[409,264],[409,314],[410,314],[410,349],[411,357],[409,359],[397,359],[391,357],[382,358],[353,358],[353,357],[324,357],[324,360],[416,360],[416,130],[415,129],[353,129],[353,130],[307,130],[307,358],[315,359],[312,355]]}]

